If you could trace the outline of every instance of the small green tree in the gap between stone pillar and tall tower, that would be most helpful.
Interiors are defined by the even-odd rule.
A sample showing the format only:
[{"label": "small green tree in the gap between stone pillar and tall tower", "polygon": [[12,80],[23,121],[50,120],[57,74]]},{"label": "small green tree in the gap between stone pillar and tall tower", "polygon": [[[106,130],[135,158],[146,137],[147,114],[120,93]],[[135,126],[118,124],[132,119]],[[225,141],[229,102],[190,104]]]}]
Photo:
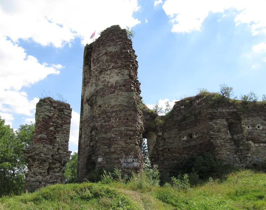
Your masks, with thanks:
[{"label": "small green tree in the gap between stone pillar and tall tower", "polygon": [[64,173],[67,183],[76,183],[77,180],[77,168],[78,168],[78,153],[71,155],[69,162],[66,164],[66,170]]}]

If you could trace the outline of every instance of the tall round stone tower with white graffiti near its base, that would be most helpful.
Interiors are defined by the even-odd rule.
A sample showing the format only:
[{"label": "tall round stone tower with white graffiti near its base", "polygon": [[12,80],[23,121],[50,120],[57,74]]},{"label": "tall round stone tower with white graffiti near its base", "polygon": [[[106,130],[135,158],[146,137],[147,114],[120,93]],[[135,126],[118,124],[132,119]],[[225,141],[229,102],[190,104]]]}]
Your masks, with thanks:
[{"label": "tall round stone tower with white graffiti near its base", "polygon": [[118,25],[84,49],[77,181],[97,167],[129,173],[142,167],[143,131],[138,63]]}]

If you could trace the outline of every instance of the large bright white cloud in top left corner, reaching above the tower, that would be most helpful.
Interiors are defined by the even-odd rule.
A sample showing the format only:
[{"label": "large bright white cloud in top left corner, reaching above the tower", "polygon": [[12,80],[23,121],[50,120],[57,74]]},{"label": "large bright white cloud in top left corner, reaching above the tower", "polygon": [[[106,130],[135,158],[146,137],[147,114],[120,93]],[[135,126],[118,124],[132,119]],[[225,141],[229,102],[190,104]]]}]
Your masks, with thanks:
[{"label": "large bright white cloud in top left corner, reaching above the tower", "polygon": [[77,36],[90,40],[94,30],[140,23],[132,17],[139,9],[137,0],[14,0],[1,2],[0,7],[0,28],[5,36],[14,41],[30,39],[44,46],[62,47]]}]

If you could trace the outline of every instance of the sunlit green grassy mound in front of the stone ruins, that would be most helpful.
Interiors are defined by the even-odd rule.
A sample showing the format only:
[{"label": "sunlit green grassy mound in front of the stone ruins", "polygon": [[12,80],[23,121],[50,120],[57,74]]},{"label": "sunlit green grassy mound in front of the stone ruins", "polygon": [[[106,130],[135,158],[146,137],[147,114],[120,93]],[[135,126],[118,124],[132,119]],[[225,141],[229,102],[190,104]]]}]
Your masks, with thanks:
[{"label": "sunlit green grassy mound in front of the stone ruins", "polygon": [[127,184],[56,184],[34,193],[0,199],[2,209],[261,209],[266,210],[266,174],[242,169],[178,190],[154,187],[142,177]]}]

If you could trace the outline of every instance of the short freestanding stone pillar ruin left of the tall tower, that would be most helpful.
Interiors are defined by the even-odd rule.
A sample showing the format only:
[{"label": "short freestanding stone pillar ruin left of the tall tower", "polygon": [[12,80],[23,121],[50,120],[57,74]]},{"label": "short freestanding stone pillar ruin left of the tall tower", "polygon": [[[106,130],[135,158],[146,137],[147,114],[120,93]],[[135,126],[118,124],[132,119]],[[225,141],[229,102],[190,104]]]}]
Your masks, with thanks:
[{"label": "short freestanding stone pillar ruin left of the tall tower", "polygon": [[52,98],[37,103],[35,132],[24,149],[28,166],[25,191],[65,181],[63,173],[71,154],[68,151],[71,112],[69,104]]}]

